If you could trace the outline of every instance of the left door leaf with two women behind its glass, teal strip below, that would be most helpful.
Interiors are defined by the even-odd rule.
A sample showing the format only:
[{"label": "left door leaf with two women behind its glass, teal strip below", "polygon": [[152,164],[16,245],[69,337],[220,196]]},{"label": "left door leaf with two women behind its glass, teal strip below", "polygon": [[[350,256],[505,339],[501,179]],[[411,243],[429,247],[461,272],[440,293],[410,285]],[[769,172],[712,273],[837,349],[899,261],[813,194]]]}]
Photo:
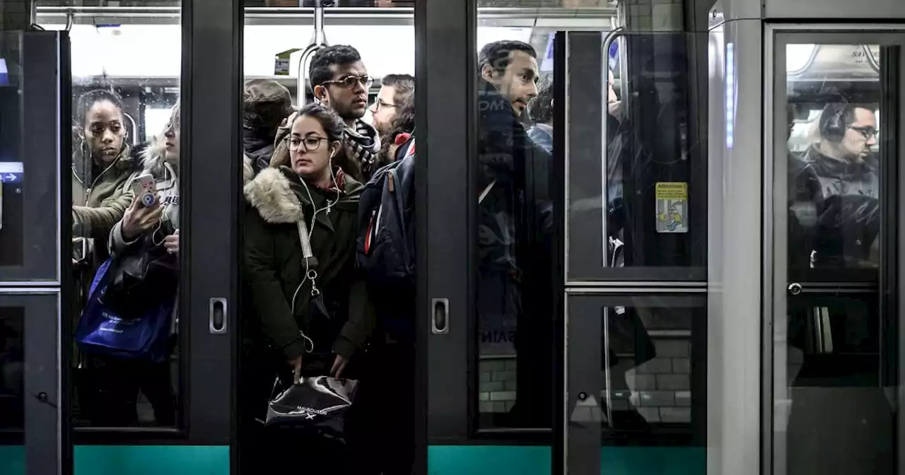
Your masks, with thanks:
[{"label": "left door leaf with two women behind its glass, teal strip below", "polygon": [[[51,147],[49,138],[59,137],[67,147],[72,141],[71,150],[54,152],[56,161],[42,165],[48,172],[37,160],[50,151],[26,148],[21,159],[12,150],[0,156],[0,166],[8,167],[10,159],[24,162],[20,201],[27,212],[25,221],[21,212],[5,213],[0,248],[5,252],[6,243],[14,242],[26,249],[22,255],[33,261],[25,271],[49,261],[57,272],[26,276],[20,269],[18,280],[62,281],[62,297],[52,304],[59,315],[39,321],[43,330],[32,330],[32,337],[46,335],[44,343],[27,340],[32,310],[21,303],[43,297],[0,304],[26,311],[26,418],[40,413],[31,409],[34,404],[55,407],[59,415],[44,423],[52,423],[54,432],[59,424],[64,441],[62,469],[43,469],[41,463],[56,460],[57,446],[33,448],[28,437],[41,432],[28,432],[26,420],[25,473],[229,473],[242,196],[242,52],[229,45],[242,37],[241,5],[164,5],[156,7],[150,24],[147,14],[136,15],[130,7],[73,8],[63,23],[37,14],[44,29],[63,30],[45,34],[68,37],[60,48],[72,60],[43,72],[53,78],[59,71],[62,84],[41,89],[43,100],[64,106],[22,106],[23,114],[41,112],[56,120],[41,128],[26,121],[26,146]],[[104,15],[116,19],[101,20]],[[137,54],[132,42],[153,44],[153,53]],[[28,67],[26,62],[26,74]],[[24,84],[28,98],[27,76]],[[70,92],[73,85],[78,94]],[[150,109],[157,113],[146,113]],[[139,202],[141,190],[132,178],[144,175],[157,196]],[[48,185],[42,188],[43,180]],[[6,184],[4,192],[6,212],[15,195]],[[157,206],[158,214],[148,214]],[[44,231],[35,234],[26,226],[24,239],[8,241],[14,236],[5,233],[21,230],[28,220]],[[45,356],[52,364],[28,364],[28,352],[38,348],[57,348]],[[59,386],[37,387],[43,368],[57,366],[62,378],[53,376],[52,382]],[[47,451],[41,458],[31,453],[39,447]]]}]

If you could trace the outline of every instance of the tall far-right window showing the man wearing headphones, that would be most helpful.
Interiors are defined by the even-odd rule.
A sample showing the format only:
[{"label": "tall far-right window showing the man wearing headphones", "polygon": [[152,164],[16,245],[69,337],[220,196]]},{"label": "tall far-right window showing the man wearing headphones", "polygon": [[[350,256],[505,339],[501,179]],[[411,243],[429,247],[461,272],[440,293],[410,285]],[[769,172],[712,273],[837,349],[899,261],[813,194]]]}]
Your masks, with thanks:
[{"label": "tall far-right window showing the man wearing headphones", "polygon": [[788,473],[894,472],[884,387],[898,371],[897,313],[881,286],[898,266],[898,214],[885,197],[897,193],[900,146],[880,116],[899,108],[901,46],[847,36],[855,42],[827,33],[777,46],[776,266],[786,272],[770,340],[772,450],[774,470]]}]

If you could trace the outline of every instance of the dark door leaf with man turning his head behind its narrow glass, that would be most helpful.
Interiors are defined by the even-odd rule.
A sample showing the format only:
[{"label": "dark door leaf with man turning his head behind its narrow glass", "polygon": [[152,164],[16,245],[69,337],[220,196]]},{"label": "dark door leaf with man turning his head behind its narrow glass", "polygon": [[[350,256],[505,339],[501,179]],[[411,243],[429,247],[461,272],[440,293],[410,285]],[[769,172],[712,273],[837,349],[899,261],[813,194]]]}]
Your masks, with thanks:
[{"label": "dark door leaf with man turning his head behind its narrow glass", "polygon": [[552,470],[553,162],[521,119],[542,90],[549,109],[556,30],[528,4],[415,9],[419,473]]}]

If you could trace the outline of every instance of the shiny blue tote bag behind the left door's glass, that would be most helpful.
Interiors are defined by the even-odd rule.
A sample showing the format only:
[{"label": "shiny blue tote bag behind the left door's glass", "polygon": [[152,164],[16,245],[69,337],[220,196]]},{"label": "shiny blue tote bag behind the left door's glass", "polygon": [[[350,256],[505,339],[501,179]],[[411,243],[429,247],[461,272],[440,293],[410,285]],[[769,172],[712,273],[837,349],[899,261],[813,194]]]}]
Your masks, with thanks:
[{"label": "shiny blue tote bag behind the left door's glass", "polygon": [[104,297],[110,290],[113,264],[110,257],[94,275],[75,340],[90,354],[160,361],[167,355],[169,321],[176,299],[164,299],[137,312],[110,305]]}]

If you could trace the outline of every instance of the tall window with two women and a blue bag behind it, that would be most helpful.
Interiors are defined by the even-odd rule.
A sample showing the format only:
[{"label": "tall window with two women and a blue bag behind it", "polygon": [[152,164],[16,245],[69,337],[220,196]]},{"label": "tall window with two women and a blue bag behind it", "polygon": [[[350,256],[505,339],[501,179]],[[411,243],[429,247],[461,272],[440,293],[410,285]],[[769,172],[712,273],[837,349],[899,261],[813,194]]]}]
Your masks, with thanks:
[{"label": "tall window with two women and a blue bag behind it", "polygon": [[[41,14],[47,28],[63,27]],[[179,163],[186,157],[175,20],[68,25],[76,289],[67,361],[77,428],[176,428],[180,417]],[[137,53],[148,44],[148,54]]]}]

